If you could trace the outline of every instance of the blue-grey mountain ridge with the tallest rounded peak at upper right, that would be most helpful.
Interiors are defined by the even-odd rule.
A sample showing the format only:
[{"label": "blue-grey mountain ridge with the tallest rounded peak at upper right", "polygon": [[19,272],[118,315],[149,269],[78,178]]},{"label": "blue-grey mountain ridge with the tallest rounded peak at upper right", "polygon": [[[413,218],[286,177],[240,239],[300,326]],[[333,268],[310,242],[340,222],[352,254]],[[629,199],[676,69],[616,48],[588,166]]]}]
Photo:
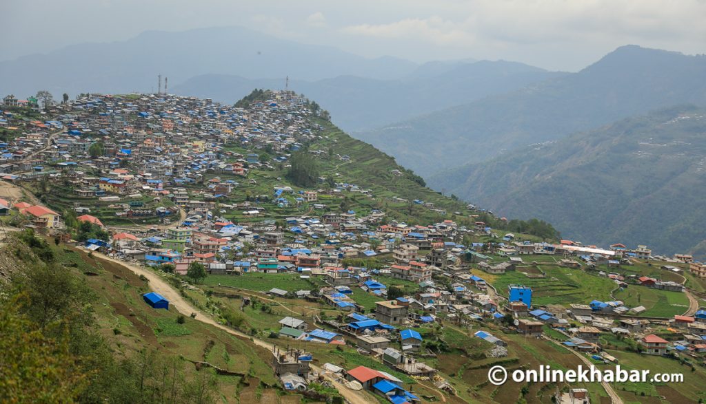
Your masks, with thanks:
[{"label": "blue-grey mountain ridge with the tallest rounded peak at upper right", "polygon": [[706,104],[706,56],[631,45],[578,73],[354,135],[428,178],[517,147],[682,103]]}]

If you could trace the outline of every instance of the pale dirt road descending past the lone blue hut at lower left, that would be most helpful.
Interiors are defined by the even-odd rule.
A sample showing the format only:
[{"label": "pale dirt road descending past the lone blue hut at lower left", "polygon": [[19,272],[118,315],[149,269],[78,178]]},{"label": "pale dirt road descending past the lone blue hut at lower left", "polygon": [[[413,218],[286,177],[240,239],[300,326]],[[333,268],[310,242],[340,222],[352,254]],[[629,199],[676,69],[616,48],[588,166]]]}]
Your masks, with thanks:
[{"label": "pale dirt road descending past the lone blue hut at lower left", "polygon": [[[100,259],[104,259],[110,262],[114,262],[116,264],[122,265],[123,267],[126,267],[127,269],[130,269],[137,275],[143,275],[145,278],[148,279],[150,283],[150,288],[154,290],[155,292],[159,293],[160,295],[164,296],[167,300],[169,300],[169,305],[172,305],[175,309],[177,309],[178,312],[181,314],[184,314],[186,316],[190,316],[191,313],[196,313],[196,320],[204,323],[204,324],[209,324],[210,326],[215,326],[217,329],[222,329],[223,331],[230,333],[234,336],[239,336],[241,338],[247,338],[255,345],[258,345],[262,348],[265,348],[269,350],[270,352],[273,350],[274,345],[265,341],[262,341],[258,338],[253,338],[252,336],[247,335],[246,333],[241,333],[240,331],[236,331],[234,329],[231,329],[227,326],[224,326],[223,324],[220,324],[216,322],[214,319],[208,316],[208,314],[205,314],[201,312],[201,310],[198,310],[196,307],[193,307],[189,302],[184,300],[184,298],[181,297],[179,292],[177,290],[174,290],[167,281],[164,281],[164,279],[155,274],[154,272],[145,269],[145,268],[140,268],[137,267],[136,265],[128,264],[126,262],[120,261],[119,259],[114,259],[112,257],[108,257],[107,255],[103,255],[100,252],[93,252],[93,255],[95,257],[99,257]],[[349,403],[351,404],[378,404],[378,400],[370,396],[368,393],[365,391],[354,391],[351,390],[350,388],[347,388],[342,384],[340,381],[337,381],[334,377],[331,377],[328,374],[325,374],[323,370],[315,365],[311,365],[311,369],[314,371],[318,372],[318,374],[321,374],[330,384],[332,384],[336,390],[341,393],[341,396],[345,398]]]}]

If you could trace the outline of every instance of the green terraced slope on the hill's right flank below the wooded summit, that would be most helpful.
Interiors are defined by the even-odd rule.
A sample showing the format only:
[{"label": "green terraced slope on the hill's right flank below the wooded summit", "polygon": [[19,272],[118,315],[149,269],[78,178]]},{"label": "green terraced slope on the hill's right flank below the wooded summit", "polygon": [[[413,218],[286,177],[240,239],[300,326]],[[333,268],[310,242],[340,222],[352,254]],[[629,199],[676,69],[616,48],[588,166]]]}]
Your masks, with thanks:
[{"label": "green terraced slope on the hill's right flank below the wooded summit", "polygon": [[[321,176],[330,175],[337,183],[359,185],[363,189],[372,190],[373,193],[373,197],[360,192],[347,191],[341,192],[340,195],[320,195],[318,203],[326,204],[328,209],[337,211],[342,197],[347,197],[349,209],[363,213],[368,213],[371,209],[381,209],[388,214],[388,218],[407,221],[409,224],[429,224],[444,219],[452,219],[466,224],[472,222],[472,219],[467,216],[469,212],[465,208],[465,204],[440,195],[439,192],[415,182],[414,176],[398,166],[392,157],[367,143],[350,137],[328,121],[317,119],[316,123],[323,127],[322,138],[313,142],[309,149],[325,152],[321,157],[316,158]],[[252,152],[252,150],[239,146],[229,146],[227,149],[238,153]],[[329,157],[329,149],[333,151],[333,157]],[[336,157],[337,154],[347,155],[350,160],[343,161]],[[393,170],[402,171],[402,175],[392,173]],[[227,202],[244,202],[246,195],[271,196],[275,185],[289,185],[296,191],[304,189],[289,183],[286,174],[287,170],[282,168],[275,171],[252,170],[247,180],[242,177],[232,177],[239,182],[239,186],[237,192],[229,195]],[[213,176],[220,176],[222,179],[231,178],[220,174],[210,174],[207,178]],[[257,183],[249,183],[250,179],[256,180]],[[315,188],[328,188],[328,186],[319,184]],[[306,203],[297,207],[292,195],[282,196],[289,200],[289,206],[277,207],[274,204],[262,204],[267,209],[268,218],[282,219],[294,214],[321,214],[324,212],[315,211],[310,204]],[[390,200],[395,196],[407,199],[408,202]],[[432,202],[436,209],[445,209],[447,214],[442,216],[420,204],[412,204],[412,200]],[[465,214],[454,215],[453,212],[465,212]],[[228,214],[232,215],[236,221],[253,221],[251,218],[242,216],[238,211],[228,212]]]}]

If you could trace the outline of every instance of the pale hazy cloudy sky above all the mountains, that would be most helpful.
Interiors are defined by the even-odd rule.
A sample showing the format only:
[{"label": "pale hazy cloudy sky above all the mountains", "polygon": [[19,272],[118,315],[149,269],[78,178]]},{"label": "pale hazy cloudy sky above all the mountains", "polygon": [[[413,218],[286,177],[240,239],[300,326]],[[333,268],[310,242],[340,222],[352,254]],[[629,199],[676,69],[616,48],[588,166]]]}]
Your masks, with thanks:
[{"label": "pale hazy cloudy sky above all the mountains", "polygon": [[[1,0],[0,60],[145,30],[242,25],[363,56],[577,71],[623,44],[706,53],[706,0]],[[8,35],[8,32],[13,32]]]}]

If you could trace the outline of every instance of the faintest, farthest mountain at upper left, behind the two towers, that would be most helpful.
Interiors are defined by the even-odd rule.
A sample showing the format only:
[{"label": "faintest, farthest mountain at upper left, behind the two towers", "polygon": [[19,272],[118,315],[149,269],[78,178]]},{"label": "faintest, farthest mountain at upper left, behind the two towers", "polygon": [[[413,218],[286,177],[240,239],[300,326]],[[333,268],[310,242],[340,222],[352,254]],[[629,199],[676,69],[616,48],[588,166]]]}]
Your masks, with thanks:
[{"label": "faintest, farthest mountain at upper left, behind the two towers", "polygon": [[[68,92],[157,91],[157,75],[176,85],[196,75],[321,80],[339,75],[390,79],[417,63],[389,56],[366,59],[333,47],[278,39],[243,27],[184,32],[149,31],[133,39],[86,43],[47,54],[0,62],[0,94],[26,97],[37,90]],[[252,90],[252,89],[251,89]]]}]

